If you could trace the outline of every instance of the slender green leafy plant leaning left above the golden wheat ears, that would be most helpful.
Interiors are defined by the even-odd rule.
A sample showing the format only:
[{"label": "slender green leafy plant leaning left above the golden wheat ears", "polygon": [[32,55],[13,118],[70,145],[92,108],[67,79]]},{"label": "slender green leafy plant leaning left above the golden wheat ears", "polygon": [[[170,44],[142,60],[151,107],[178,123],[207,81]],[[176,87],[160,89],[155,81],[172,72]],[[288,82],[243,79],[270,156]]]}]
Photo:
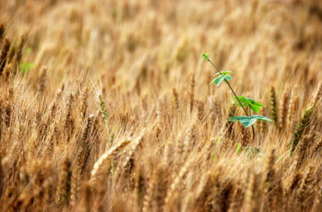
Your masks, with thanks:
[{"label": "slender green leafy plant leaning left above the golden wheat ears", "polygon": [[[255,113],[258,113],[262,107],[264,107],[263,104],[256,102],[254,99],[247,98],[244,96],[237,96],[234,90],[231,88],[229,84],[229,80],[232,80],[232,74],[234,74],[231,71],[220,71],[219,68],[212,63],[212,61],[209,58],[209,53],[202,53],[202,59],[208,61],[211,63],[213,67],[217,70],[217,73],[214,75],[215,79],[211,81],[210,84],[215,84],[216,86],[219,86],[222,82],[225,82],[228,87],[230,88],[231,92],[233,93],[234,97],[234,103],[243,108],[246,116],[234,116],[228,119],[228,121],[238,121],[239,123],[243,124],[245,127],[250,127],[252,126],[253,129],[253,137],[255,137],[255,130],[254,130],[254,124],[257,120],[261,121],[272,121],[271,119],[265,117],[265,116],[260,116],[260,115],[252,115],[251,111],[253,110]],[[246,107],[249,108],[249,112],[245,109]]]}]

